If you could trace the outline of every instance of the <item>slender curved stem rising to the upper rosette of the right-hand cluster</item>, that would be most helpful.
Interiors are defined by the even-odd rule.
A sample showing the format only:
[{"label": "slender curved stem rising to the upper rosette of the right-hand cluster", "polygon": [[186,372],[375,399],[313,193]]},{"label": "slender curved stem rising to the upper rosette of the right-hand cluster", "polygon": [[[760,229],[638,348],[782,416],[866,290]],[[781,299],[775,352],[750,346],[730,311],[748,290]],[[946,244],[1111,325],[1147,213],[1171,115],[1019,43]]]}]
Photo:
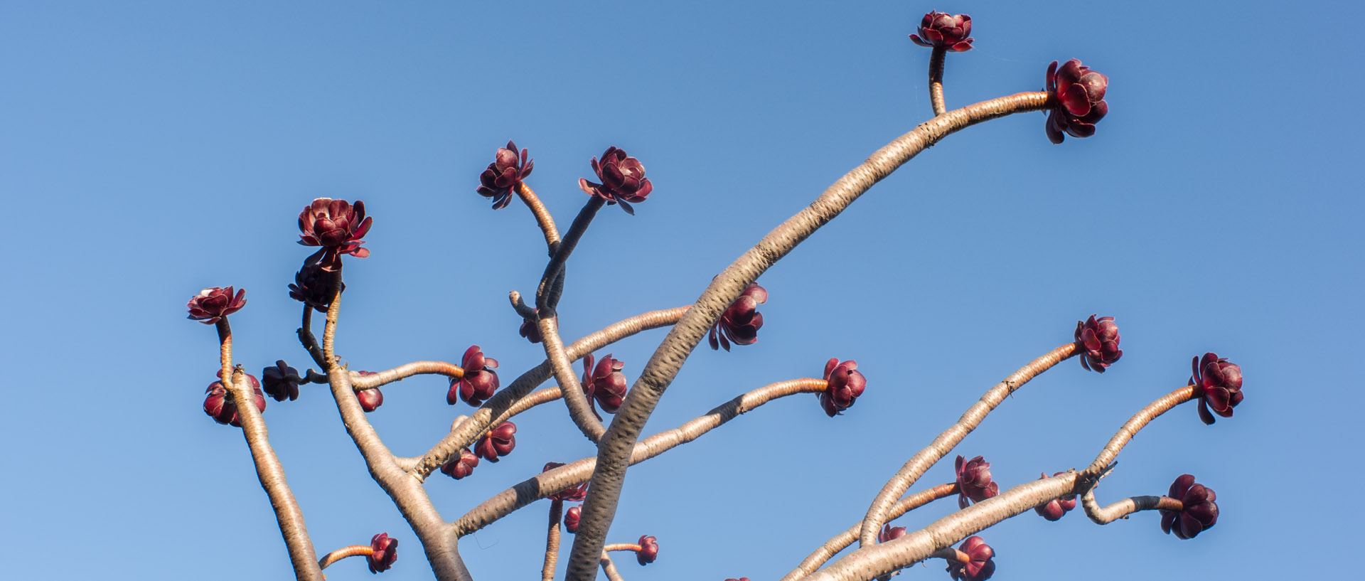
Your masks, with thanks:
[{"label": "slender curved stem rising to the upper rosette of the right-hand cluster", "polygon": [[919,480],[925,471],[938,464],[938,461],[947,456],[949,451],[953,451],[953,449],[957,447],[957,445],[962,442],[962,438],[966,438],[972,430],[976,430],[976,427],[986,420],[986,415],[991,413],[995,406],[1001,405],[1007,396],[1022,387],[1024,383],[1028,383],[1029,379],[1033,379],[1039,374],[1052,368],[1052,366],[1065,361],[1076,355],[1076,352],[1077,345],[1069,342],[1029,361],[1026,366],[1020,367],[994,387],[988,389],[981,398],[976,401],[976,404],[966,408],[966,412],[962,413],[962,417],[958,417],[957,423],[939,434],[938,438],[934,438],[934,442],[930,442],[930,445],[923,450],[915,453],[910,460],[906,460],[905,465],[902,465],[901,469],[891,476],[890,480],[887,480],[886,486],[882,487],[882,491],[872,499],[872,506],[867,509],[867,516],[863,517],[863,529],[859,532],[859,544],[864,547],[876,544],[876,533],[882,528],[882,524],[887,521],[887,509],[890,509],[890,506],[895,503],[895,499],[901,498],[901,495],[909,490],[910,484],[915,484],[915,481]]}]

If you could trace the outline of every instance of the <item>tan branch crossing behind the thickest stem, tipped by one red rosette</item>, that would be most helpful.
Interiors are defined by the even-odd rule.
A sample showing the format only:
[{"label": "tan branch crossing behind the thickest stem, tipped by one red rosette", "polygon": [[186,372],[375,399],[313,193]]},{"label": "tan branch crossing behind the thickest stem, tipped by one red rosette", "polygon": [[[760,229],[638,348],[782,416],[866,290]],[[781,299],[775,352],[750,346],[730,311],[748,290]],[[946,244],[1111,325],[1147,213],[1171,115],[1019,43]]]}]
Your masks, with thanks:
[{"label": "tan branch crossing behind the thickest stem, tipped by one red rosette", "polygon": [[[824,379],[790,379],[766,385],[738,396],[707,412],[704,416],[695,417],[677,428],[662,431],[640,441],[635,445],[635,450],[631,454],[631,464],[643,462],[673,447],[692,442],[702,436],[702,434],[715,430],[736,416],[747,413],[768,401],[797,393],[820,393],[824,391]],[[470,535],[512,514],[523,506],[568,487],[583,484],[592,477],[595,464],[595,458],[583,458],[523,480],[517,486],[475,506],[460,517],[460,520],[455,521],[453,529],[460,536]],[[597,483],[592,486],[597,486]],[[580,528],[579,531],[583,529]]]}]

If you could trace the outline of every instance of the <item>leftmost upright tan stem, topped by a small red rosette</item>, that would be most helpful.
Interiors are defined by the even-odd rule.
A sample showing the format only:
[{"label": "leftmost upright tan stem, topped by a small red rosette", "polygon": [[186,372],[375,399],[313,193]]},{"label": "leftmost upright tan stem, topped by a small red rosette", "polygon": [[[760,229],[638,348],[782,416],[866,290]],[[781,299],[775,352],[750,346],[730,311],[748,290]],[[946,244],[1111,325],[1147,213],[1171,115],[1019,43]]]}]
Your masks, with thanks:
[{"label": "leftmost upright tan stem, topped by a small red rosette", "polygon": [[251,389],[246,374],[232,368],[232,327],[228,318],[218,319],[218,345],[222,356],[222,386],[232,394],[232,401],[238,408],[238,420],[242,424],[242,435],[251,449],[251,460],[255,462],[257,477],[261,488],[265,488],[270,498],[270,507],[274,509],[274,518],[280,524],[280,533],[284,536],[284,546],[289,550],[289,562],[293,565],[293,576],[302,580],[322,581],[322,569],[318,567],[318,555],[313,548],[313,539],[308,537],[308,528],[303,524],[303,510],[299,501],[293,498],[293,491],[284,479],[284,465],[274,456],[270,447],[270,438],[265,427],[265,417],[255,406],[255,393]]}]

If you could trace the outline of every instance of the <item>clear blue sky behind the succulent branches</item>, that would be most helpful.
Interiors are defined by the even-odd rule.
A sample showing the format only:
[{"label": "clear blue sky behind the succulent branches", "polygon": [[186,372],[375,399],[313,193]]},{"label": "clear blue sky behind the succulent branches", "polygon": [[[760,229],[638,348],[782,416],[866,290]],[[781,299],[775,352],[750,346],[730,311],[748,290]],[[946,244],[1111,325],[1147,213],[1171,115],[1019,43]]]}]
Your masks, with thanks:
[{"label": "clear blue sky behind the succulent branches", "polygon": [[[1102,501],[1218,491],[1200,537],[1155,513],[1099,528],[1024,514],[983,533],[996,578],[1339,576],[1361,541],[1360,164],[1362,8],[1279,3],[5,3],[0,5],[0,366],[8,442],[0,546],[12,578],[281,578],[289,563],[240,434],[201,411],[205,286],[247,289],[232,316],[253,372],[307,361],[285,286],[311,252],[296,215],[363,199],[373,255],[347,260],[339,353],[352,370],[459,361],[479,344],[504,383],[543,353],[506,292],[532,292],[543,240],[520,203],[474,194],[495,147],[566,226],[588,158],[639,157],[655,183],[605,209],[571,262],[572,341],[691,303],[744,248],[871,151],[930,116],[928,10],[973,16],[947,60],[949,106],[1037,90],[1052,60],[1111,79],[1091,139],[1044,116],[966,130],[919,155],[766,273],[758,344],[696,351],[646,434],[764,383],[856,359],[857,405],[775,401],[631,469],[610,541],[655,535],[631,580],[771,580],[856,522],[882,483],[983,390],[1112,315],[1110,372],[1066,361],[958,447],[1002,487],[1084,466],[1189,359],[1242,366],[1246,400],[1205,427],[1194,404],[1123,451]],[[1355,184],[1355,185],[1351,185]],[[319,326],[321,333],[321,326]],[[632,381],[662,330],[601,352]],[[1345,376],[1343,376],[1345,375]],[[400,454],[470,408],[446,383],[384,389],[370,415]],[[319,552],[386,531],[388,580],[430,578],[322,386],[272,401],[270,435]],[[564,406],[516,420],[516,451],[427,490],[448,518],[592,453]],[[951,480],[951,457],[913,490]],[[951,499],[898,520],[921,526]],[[534,578],[547,503],[467,537],[483,580]],[[566,554],[565,548],[565,554]],[[1312,556],[1312,558],[1310,558]],[[1350,567],[1349,565],[1345,565]],[[905,578],[943,580],[942,562]],[[562,561],[561,561],[562,570]],[[1349,569],[1347,569],[1349,570]],[[369,578],[363,561],[328,570]]]}]

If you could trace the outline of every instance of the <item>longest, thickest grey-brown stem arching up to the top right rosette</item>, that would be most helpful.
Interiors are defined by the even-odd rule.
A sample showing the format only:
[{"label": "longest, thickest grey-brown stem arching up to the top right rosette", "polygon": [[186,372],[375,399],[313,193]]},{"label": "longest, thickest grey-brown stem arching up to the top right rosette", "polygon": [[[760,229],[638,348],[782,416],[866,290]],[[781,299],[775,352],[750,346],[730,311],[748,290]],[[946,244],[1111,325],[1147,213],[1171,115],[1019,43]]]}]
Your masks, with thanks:
[{"label": "longest, thickest grey-brown stem arching up to the top right rosette", "polygon": [[834,220],[874,184],[924,149],[953,132],[990,119],[1041,110],[1054,100],[1055,97],[1043,91],[1018,93],[956,109],[924,121],[874,153],[872,157],[830,185],[809,206],[768,232],[763,240],[715,277],[706,292],[693,303],[693,308],[674,325],[640,371],[640,376],[631,387],[621,411],[598,446],[597,472],[592,476],[592,488],[588,491],[587,503],[583,505],[579,533],[573,539],[566,581],[592,581],[595,577],[598,555],[602,552],[607,529],[616,517],[621,487],[625,484],[627,466],[631,464],[635,443],[640,431],[644,430],[644,423],[650,419],[650,413],[658,405],[663,390],[677,376],[692,349],[721,316],[721,312],[751,282],[816,229]]}]

